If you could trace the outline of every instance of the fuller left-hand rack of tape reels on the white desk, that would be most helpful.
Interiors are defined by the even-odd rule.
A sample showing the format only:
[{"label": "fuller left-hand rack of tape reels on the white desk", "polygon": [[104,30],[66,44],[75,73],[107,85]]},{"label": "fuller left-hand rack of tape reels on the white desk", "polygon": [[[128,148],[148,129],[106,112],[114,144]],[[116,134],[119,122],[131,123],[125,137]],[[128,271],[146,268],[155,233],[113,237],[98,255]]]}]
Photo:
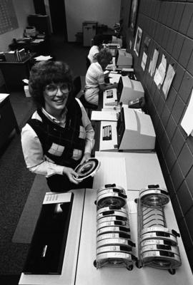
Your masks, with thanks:
[{"label": "fuller left-hand rack of tape reels on the white desk", "polygon": [[94,266],[124,266],[133,269],[136,257],[131,240],[127,195],[118,185],[104,185],[97,190],[97,259]]}]

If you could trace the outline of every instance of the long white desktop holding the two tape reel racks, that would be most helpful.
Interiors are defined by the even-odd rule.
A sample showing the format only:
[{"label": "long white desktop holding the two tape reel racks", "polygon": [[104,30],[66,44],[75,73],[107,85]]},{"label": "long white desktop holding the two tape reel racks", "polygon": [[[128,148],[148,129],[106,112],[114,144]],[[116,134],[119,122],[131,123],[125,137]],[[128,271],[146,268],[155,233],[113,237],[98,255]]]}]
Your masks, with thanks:
[{"label": "long white desktop holding the two tape reel racks", "polygon": [[[97,152],[96,156],[99,158],[105,153],[106,152]],[[162,171],[155,153],[107,153],[107,155],[105,155],[105,160],[106,162],[109,162],[110,165],[112,165],[110,157],[113,157],[114,155],[120,160],[124,159],[123,155],[127,156],[124,165],[122,165],[124,172],[119,172],[119,175],[117,172],[116,176],[114,175],[114,172],[109,172],[109,169],[102,165],[103,178],[99,169],[99,172],[97,172],[97,175],[99,173],[99,177],[97,177],[97,175],[94,176],[94,187],[104,185],[104,182],[107,181],[108,177],[108,182],[113,181],[119,183],[119,185],[122,185],[122,182],[124,182],[124,185],[126,185],[125,189],[129,189],[127,190],[129,202],[134,201],[135,198],[139,197],[139,189],[149,183],[154,184],[154,182],[156,182],[164,186],[164,178],[162,177]],[[117,164],[116,167],[118,170],[119,164]],[[111,167],[111,169],[112,168],[113,167]],[[119,180],[117,177],[119,177]],[[127,177],[127,180],[125,180],[125,177]],[[152,269],[150,267],[137,269],[137,266],[135,265],[132,271],[128,271],[124,267],[102,267],[102,269],[96,269],[93,262],[96,259],[97,249],[97,208],[94,204],[94,201],[97,199],[97,191],[96,189],[86,189],[85,191],[74,190],[74,193],[76,204],[74,204],[73,207],[76,209],[76,214],[78,214],[78,216],[76,215],[75,217],[74,214],[71,216],[69,236],[67,239],[69,247],[66,246],[66,254],[64,256],[61,275],[33,276],[21,274],[21,279],[19,281],[20,285],[192,285],[192,271],[189,267],[189,262],[181,238],[178,238],[178,244],[182,258],[182,266],[177,269],[176,274],[174,275],[169,274],[166,270]],[[167,226],[179,232],[172,204],[170,202],[165,206],[165,216],[167,219]],[[132,241],[137,244],[136,212],[129,214],[129,224],[131,227]],[[137,252],[134,252],[134,254],[137,255]]]}]

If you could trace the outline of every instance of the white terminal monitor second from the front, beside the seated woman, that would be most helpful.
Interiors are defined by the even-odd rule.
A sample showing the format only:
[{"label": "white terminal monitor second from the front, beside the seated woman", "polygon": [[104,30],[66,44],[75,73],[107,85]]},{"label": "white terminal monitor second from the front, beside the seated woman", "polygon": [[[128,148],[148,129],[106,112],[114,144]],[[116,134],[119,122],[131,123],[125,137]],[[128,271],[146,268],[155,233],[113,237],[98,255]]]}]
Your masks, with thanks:
[{"label": "white terminal monitor second from the front, beside the seated woman", "polygon": [[144,88],[140,81],[134,81],[129,76],[119,78],[117,87],[117,100],[128,104],[129,100],[144,97]]}]

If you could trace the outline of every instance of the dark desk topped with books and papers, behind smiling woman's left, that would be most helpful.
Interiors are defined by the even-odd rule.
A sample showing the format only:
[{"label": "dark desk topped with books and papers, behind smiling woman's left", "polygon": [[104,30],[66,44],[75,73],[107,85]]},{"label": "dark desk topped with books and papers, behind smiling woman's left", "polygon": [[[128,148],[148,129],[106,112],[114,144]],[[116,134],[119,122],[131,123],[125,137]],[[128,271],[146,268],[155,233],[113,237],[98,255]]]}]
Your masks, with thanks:
[{"label": "dark desk topped with books and papers, behind smiling woman's left", "polygon": [[31,60],[35,54],[36,53],[31,53],[24,61],[0,62],[6,88],[9,91],[23,88],[22,79],[29,78],[29,71],[32,66]]}]

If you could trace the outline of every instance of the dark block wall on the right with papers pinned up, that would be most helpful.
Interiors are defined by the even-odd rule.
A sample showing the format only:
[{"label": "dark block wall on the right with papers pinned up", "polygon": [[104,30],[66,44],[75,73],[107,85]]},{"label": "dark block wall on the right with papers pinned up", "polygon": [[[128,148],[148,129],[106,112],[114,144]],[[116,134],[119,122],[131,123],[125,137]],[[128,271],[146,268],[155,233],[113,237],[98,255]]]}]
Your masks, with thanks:
[{"label": "dark block wall on the right with papers pinned up", "polygon": [[[132,41],[134,68],[146,91],[149,114],[157,133],[157,153],[172,199],[172,205],[193,270],[193,137],[187,137],[180,123],[193,88],[193,1],[140,0],[137,26],[142,28],[139,57],[133,51],[134,36],[128,28],[131,1],[122,0],[124,35]],[[141,68],[144,38],[151,41],[145,71]],[[171,63],[176,74],[167,99],[149,75],[154,49]]]}]

